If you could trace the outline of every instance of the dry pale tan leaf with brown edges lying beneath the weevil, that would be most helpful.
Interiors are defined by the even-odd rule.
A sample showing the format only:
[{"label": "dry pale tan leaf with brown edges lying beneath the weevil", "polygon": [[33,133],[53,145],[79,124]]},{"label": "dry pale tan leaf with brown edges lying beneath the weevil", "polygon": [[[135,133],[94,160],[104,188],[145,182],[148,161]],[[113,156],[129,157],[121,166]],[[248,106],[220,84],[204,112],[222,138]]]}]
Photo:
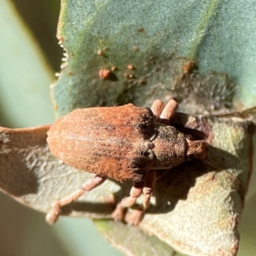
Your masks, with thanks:
[{"label": "dry pale tan leaf with brown edges lying beneath the weevil", "polygon": [[[197,126],[207,131],[207,140],[211,143],[207,162],[186,162],[160,177],[151,207],[140,227],[146,234],[159,239],[154,239],[152,250],[162,247],[160,244],[164,241],[188,255],[236,255],[239,244],[237,226],[252,171],[253,125],[241,118],[210,117],[201,119]],[[94,176],[66,166],[49,152],[46,143],[48,129],[49,126],[16,130],[2,128],[0,135],[1,189],[41,212],[49,212],[55,200],[70,195],[81,183]],[[107,180],[85,193],[79,201],[63,208],[62,213],[109,219],[115,202],[129,195],[130,189],[131,183]],[[128,212],[126,219],[131,214]],[[106,225],[111,227],[113,224]],[[118,231],[105,228],[103,233],[111,237],[115,246],[124,248],[120,241],[127,227],[118,225],[114,227]],[[137,230],[128,230],[129,237],[137,236],[133,235]],[[150,250],[148,243],[141,246],[142,252]],[[166,250],[166,247],[162,249]],[[162,253],[159,250],[159,254],[154,255]]]}]

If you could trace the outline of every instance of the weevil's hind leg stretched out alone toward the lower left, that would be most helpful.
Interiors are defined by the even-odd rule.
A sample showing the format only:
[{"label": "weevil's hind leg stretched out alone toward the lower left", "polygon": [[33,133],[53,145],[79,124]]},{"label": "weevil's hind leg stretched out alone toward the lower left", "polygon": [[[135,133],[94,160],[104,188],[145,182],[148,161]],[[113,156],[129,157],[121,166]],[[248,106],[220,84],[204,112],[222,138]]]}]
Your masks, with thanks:
[{"label": "weevil's hind leg stretched out alone toward the lower left", "polygon": [[91,189],[95,189],[97,186],[102,184],[106,180],[106,177],[95,176],[92,179],[86,181],[80,189],[73,192],[71,195],[67,195],[67,197],[62,198],[60,201],[55,201],[52,210],[46,215],[46,221],[49,224],[54,224],[61,214],[61,207],[64,207],[73,201],[79,199],[81,195],[84,195],[85,191],[90,191]]}]

